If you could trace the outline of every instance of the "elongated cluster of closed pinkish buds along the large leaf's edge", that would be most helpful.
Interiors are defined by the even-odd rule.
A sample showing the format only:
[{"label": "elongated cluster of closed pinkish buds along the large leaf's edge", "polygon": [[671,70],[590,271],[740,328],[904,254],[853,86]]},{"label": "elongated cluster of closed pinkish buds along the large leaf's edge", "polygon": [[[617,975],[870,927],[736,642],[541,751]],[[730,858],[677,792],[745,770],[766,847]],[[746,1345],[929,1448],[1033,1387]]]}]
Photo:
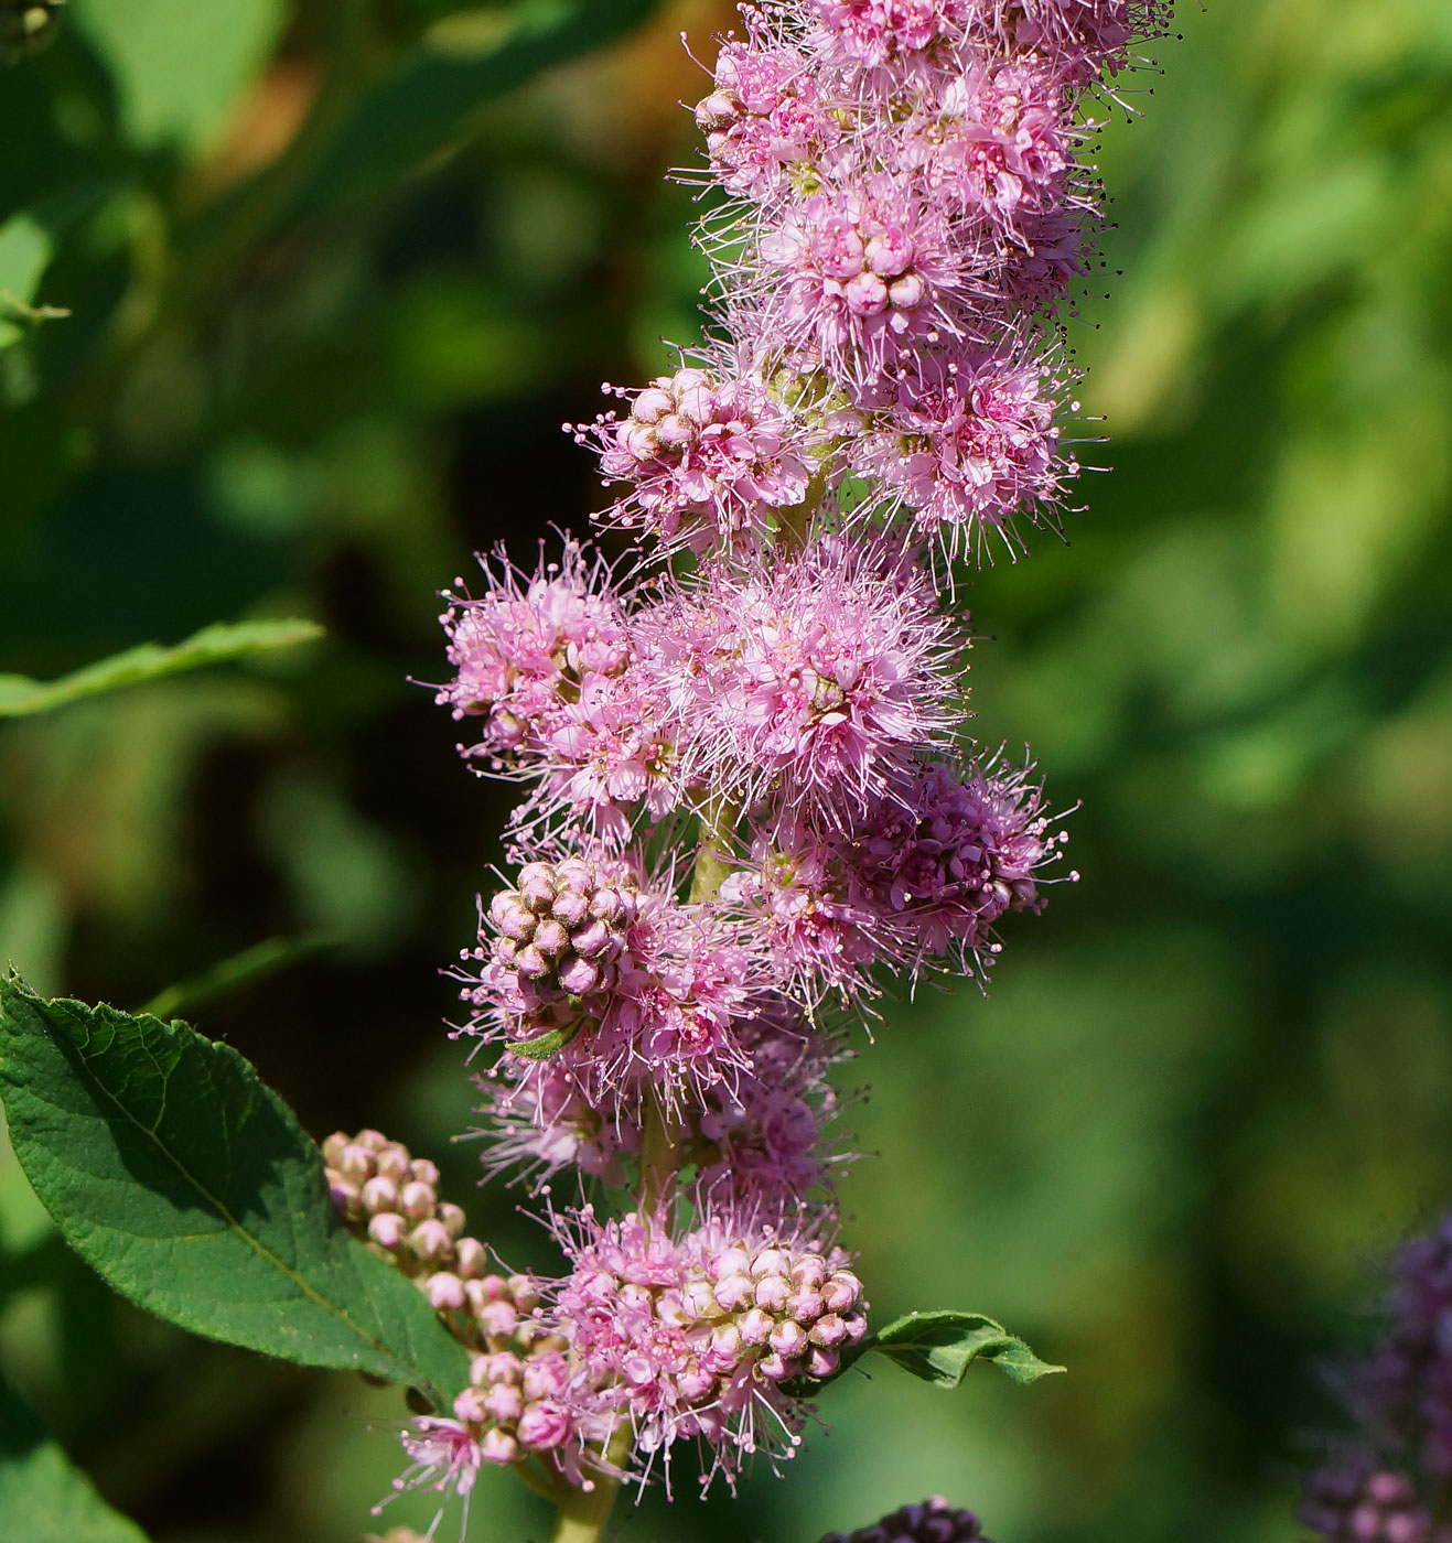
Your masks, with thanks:
[{"label": "elongated cluster of closed pinkish buds along the large leaf's edge", "polygon": [[529,1276],[489,1273],[489,1250],[464,1236],[464,1213],[437,1193],[438,1168],[380,1131],[322,1143],[333,1205],[349,1228],[423,1288],[440,1313],[463,1313],[486,1338],[514,1335],[539,1305]]}]

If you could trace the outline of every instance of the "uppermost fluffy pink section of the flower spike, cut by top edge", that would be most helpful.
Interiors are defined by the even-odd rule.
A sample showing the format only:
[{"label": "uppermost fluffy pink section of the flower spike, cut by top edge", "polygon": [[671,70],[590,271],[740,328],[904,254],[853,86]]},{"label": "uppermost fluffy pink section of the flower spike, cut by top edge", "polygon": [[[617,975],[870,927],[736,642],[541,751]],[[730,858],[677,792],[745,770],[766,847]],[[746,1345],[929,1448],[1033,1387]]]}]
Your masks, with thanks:
[{"label": "uppermost fluffy pink section of the flower spike, cut by top edge", "polygon": [[[1079,471],[1057,315],[1102,221],[1085,113],[1157,0],[758,0],[696,108],[722,339],[577,429],[613,518],[767,539],[807,486],[872,483],[980,555],[1055,525]],[[1092,97],[1089,97],[1092,100]],[[628,397],[630,393],[620,393]]]}]

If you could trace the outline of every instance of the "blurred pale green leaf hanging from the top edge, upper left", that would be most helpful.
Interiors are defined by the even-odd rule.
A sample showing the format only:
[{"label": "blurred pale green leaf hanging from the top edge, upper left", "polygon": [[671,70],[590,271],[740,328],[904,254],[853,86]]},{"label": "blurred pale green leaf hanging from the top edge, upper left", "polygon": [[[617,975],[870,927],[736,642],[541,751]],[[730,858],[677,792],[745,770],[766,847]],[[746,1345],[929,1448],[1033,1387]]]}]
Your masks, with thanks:
[{"label": "blurred pale green leaf hanging from the top edge, upper left", "polygon": [[272,52],[282,0],[86,0],[76,25],[105,59],[137,150],[204,150]]}]

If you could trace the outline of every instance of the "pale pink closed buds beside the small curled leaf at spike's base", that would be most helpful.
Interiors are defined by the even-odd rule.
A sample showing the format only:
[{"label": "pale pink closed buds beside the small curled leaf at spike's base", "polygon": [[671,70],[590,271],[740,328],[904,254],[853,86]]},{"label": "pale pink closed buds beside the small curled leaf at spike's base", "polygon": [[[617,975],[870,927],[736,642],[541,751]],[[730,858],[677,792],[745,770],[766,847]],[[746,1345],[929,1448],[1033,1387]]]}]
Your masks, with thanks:
[{"label": "pale pink closed buds beside the small curled leaf at spike's base", "polygon": [[756,1372],[768,1383],[832,1376],[842,1349],[867,1333],[866,1307],[850,1270],[776,1247],[722,1250],[680,1301],[684,1318],[716,1321],[711,1350],[722,1359],[759,1352]]}]

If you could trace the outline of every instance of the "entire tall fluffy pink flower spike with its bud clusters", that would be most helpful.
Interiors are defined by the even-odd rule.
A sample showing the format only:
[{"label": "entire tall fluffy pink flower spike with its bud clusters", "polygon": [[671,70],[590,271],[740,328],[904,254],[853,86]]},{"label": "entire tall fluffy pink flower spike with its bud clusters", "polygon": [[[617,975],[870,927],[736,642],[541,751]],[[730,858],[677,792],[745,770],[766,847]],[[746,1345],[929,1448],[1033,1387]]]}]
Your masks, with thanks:
[{"label": "entire tall fluffy pink flower spike with its bud clusters", "polygon": [[[563,1268],[494,1268],[431,1167],[333,1139],[341,1214],[472,1356],[404,1435],[403,1487],[515,1467],[563,1512],[605,1495],[569,1512],[599,1537],[682,1444],[705,1483],[792,1457],[867,1342],[829,1074],[892,977],[983,984],[1066,839],[1034,764],[966,738],[954,583],[1071,497],[1086,153],[1165,19],[756,0],[718,40],[684,173],[704,339],[566,426],[634,548],[497,552],[444,596],[438,701],[469,767],[522,788],[455,969],[475,1134]],[[878,1535],[981,1534],[927,1501],[853,1538]]]}]

